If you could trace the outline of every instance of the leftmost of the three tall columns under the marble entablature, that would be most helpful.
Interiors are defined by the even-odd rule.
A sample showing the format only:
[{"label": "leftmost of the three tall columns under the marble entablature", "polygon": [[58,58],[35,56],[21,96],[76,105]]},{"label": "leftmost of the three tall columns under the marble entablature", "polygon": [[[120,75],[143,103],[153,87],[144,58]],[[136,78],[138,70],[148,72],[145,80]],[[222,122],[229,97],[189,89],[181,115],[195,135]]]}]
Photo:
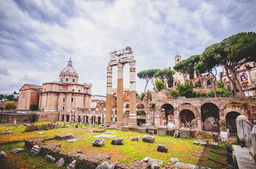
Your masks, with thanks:
[{"label": "leftmost of the three tall columns under the marble entablature", "polygon": [[106,118],[105,125],[111,125],[111,109],[112,109],[112,66],[107,68],[107,94],[106,94]]}]

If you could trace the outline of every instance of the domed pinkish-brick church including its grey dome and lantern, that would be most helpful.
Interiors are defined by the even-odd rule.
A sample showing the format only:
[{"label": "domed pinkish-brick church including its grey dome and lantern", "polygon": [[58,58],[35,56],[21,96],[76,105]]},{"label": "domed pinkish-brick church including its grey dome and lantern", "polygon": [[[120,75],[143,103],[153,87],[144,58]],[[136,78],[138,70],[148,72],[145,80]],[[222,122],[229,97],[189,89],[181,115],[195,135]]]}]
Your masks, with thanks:
[{"label": "domed pinkish-brick church including its grey dome and lantern", "polygon": [[39,109],[43,111],[75,111],[77,108],[90,108],[91,84],[78,83],[78,73],[70,60],[59,74],[59,82],[43,84],[39,93]]}]

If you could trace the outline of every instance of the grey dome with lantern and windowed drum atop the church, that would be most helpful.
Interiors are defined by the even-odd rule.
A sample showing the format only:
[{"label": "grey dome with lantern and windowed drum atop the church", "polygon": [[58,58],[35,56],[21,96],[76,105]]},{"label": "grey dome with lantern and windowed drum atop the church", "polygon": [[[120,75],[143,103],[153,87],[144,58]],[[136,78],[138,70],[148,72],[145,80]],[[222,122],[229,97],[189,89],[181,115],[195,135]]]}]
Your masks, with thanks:
[{"label": "grey dome with lantern and windowed drum atop the church", "polygon": [[70,82],[78,82],[78,73],[75,68],[73,68],[71,61],[71,56],[70,60],[67,62],[67,66],[61,70],[61,73],[59,75],[60,82],[65,82],[65,83],[70,83]]}]

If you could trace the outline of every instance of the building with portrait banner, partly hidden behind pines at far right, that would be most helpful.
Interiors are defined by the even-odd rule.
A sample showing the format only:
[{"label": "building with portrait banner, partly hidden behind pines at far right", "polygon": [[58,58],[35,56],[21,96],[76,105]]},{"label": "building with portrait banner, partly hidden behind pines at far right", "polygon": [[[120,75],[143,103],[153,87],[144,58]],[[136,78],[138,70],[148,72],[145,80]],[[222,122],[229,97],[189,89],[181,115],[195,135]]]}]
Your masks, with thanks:
[{"label": "building with portrait banner, partly hidden behind pines at far right", "polygon": [[[248,62],[241,65],[241,67],[238,68],[235,73],[245,96],[256,96],[256,63]],[[219,74],[220,82],[224,84],[227,90],[232,91],[233,94],[236,92],[237,96],[239,96],[239,91],[234,91],[233,85],[230,82],[230,79],[227,77],[227,74],[232,77],[230,73],[227,72],[224,67],[222,67],[222,72]],[[237,86],[236,89],[238,89]]]}]

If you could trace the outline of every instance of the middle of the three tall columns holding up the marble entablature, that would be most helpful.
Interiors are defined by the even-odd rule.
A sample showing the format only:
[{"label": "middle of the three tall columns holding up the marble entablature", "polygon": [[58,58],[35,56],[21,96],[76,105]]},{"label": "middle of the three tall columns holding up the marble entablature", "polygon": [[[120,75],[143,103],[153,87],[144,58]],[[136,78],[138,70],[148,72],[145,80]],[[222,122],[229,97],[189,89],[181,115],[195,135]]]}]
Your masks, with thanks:
[{"label": "middle of the three tall columns holding up the marble entablature", "polygon": [[123,126],[123,68],[121,63],[117,64],[117,119],[116,126]]}]

